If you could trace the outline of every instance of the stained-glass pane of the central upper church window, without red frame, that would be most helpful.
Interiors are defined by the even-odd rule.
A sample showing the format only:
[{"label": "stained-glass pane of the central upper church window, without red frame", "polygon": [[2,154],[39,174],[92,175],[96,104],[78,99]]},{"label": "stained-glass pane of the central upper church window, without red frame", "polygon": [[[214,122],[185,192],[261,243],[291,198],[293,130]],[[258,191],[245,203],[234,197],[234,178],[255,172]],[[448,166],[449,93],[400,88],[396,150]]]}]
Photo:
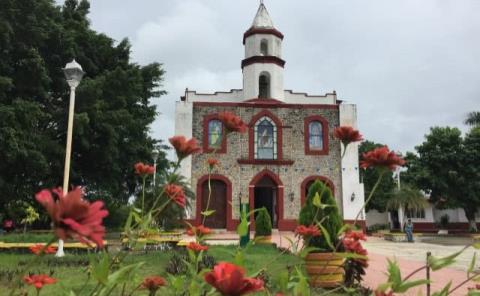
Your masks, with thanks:
[{"label": "stained-glass pane of the central upper church window, without red frame", "polygon": [[255,159],[277,159],[277,126],[268,117],[255,124]]}]

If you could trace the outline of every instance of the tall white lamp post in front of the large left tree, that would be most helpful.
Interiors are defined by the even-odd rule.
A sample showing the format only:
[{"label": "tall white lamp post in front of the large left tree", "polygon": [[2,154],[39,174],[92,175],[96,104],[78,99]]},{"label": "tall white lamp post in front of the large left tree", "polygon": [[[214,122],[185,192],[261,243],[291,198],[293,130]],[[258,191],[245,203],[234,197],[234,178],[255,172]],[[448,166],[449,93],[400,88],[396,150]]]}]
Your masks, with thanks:
[{"label": "tall white lamp post in front of the large left tree", "polygon": [[[78,64],[75,59],[68,63],[63,69],[65,78],[70,86],[70,103],[68,108],[68,128],[67,128],[67,147],[65,149],[65,168],[63,171],[63,194],[68,192],[68,181],[70,178],[70,158],[72,155],[72,133],[73,133],[73,115],[75,113],[75,89],[82,80],[83,72],[82,66]],[[58,241],[58,250],[56,257],[63,257],[63,240]]]}]

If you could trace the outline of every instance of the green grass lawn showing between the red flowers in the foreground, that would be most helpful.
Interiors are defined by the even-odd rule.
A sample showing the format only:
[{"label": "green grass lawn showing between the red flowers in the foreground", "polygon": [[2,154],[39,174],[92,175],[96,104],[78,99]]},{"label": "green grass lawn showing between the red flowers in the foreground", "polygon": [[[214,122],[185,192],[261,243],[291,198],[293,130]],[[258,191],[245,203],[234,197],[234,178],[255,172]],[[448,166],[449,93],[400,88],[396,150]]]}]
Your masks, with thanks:
[{"label": "green grass lawn showing between the red flowers in the foreground", "polygon": [[[208,254],[213,256],[217,262],[233,259],[235,246],[211,246]],[[125,263],[145,262],[140,270],[138,279],[133,280],[131,287],[138,285],[141,279],[147,275],[166,275],[165,266],[172,256],[173,251],[150,251],[149,253],[132,254],[127,257]],[[8,279],[8,271],[21,270],[25,262],[35,259],[31,254],[0,253],[0,295],[7,295],[6,288],[11,284]],[[300,259],[293,255],[281,254],[273,246],[253,246],[245,254],[247,272],[253,273],[261,268],[266,268],[272,279],[280,270],[285,270],[288,265],[300,263]],[[60,262],[60,263],[57,263]],[[60,296],[65,295],[63,289],[80,289],[88,279],[88,256],[67,255],[58,261],[53,255],[42,257],[31,269],[33,273],[52,273],[58,279],[55,285],[46,286],[42,295]],[[95,284],[91,281],[87,287],[93,288]],[[32,288],[29,291],[33,292]],[[120,292],[118,292],[119,294]],[[85,293],[82,293],[82,295]],[[32,294],[33,295],[33,294]],[[117,295],[113,293],[112,295]],[[147,295],[140,294],[140,295]]]}]

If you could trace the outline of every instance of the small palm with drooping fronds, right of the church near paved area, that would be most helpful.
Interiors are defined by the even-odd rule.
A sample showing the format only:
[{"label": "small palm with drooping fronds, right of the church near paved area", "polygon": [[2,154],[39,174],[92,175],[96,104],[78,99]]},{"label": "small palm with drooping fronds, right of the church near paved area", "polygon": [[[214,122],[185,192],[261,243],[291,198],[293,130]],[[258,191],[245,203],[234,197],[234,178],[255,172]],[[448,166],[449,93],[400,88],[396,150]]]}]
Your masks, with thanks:
[{"label": "small palm with drooping fronds, right of the church near paved area", "polygon": [[409,185],[403,186],[396,190],[392,198],[387,201],[387,210],[397,211],[404,209],[404,214],[408,211],[417,211],[425,209],[428,206],[428,201],[423,193]]}]

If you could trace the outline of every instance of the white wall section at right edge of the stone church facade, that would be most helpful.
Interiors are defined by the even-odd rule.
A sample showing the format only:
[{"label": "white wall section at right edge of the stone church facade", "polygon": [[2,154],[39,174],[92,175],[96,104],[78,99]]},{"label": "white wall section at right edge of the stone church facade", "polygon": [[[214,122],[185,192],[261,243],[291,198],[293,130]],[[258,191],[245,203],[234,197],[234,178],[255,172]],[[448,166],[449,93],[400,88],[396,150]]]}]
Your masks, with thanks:
[{"label": "white wall section at right edge of the stone church facade", "polygon": [[[357,108],[353,104],[340,104],[340,125],[357,128]],[[358,165],[358,142],[347,146],[347,151],[342,158],[342,200],[343,200],[343,218],[353,220],[357,217],[360,209],[365,202],[365,193],[363,184],[359,180]],[[342,145],[343,153],[343,145]],[[355,199],[352,201],[352,194]],[[365,210],[359,216],[360,220],[365,220]]]}]

